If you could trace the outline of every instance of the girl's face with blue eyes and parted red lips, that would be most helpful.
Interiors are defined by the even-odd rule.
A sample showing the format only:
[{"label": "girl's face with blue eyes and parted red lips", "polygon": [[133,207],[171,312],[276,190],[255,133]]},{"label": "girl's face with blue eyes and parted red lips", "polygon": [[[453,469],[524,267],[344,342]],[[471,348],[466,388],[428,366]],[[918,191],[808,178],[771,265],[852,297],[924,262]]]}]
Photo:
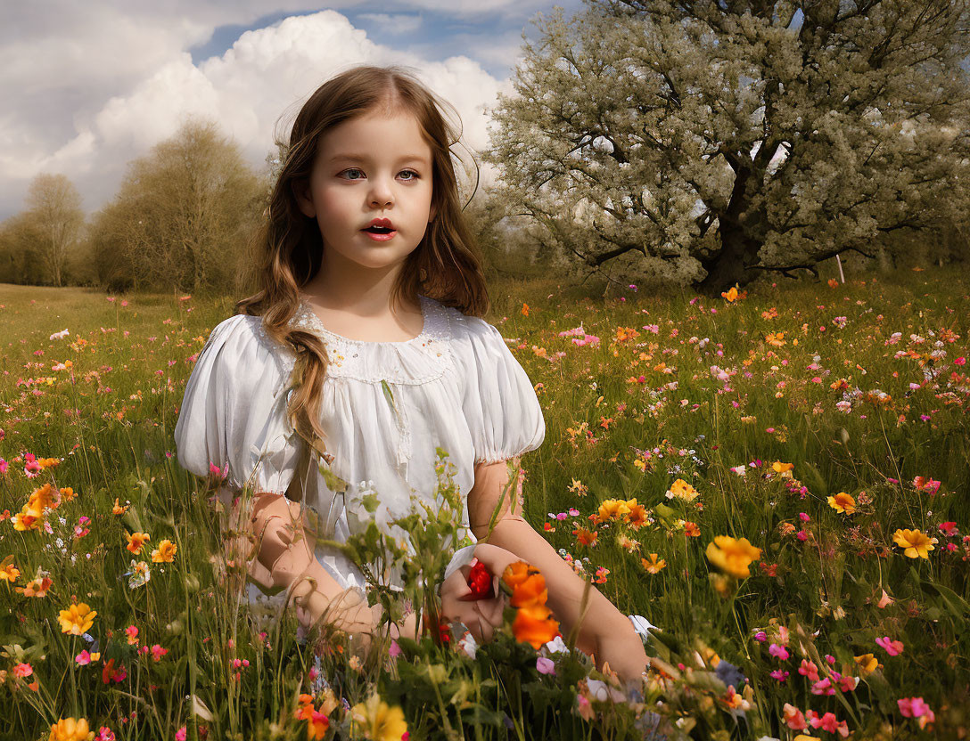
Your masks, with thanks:
[{"label": "girl's face with blue eyes and parted red lips", "polygon": [[[297,200],[316,219],[325,253],[380,268],[403,262],[421,242],[435,217],[432,185],[431,147],[414,116],[375,111],[320,139]],[[389,220],[391,231],[368,232],[374,219]]]}]

